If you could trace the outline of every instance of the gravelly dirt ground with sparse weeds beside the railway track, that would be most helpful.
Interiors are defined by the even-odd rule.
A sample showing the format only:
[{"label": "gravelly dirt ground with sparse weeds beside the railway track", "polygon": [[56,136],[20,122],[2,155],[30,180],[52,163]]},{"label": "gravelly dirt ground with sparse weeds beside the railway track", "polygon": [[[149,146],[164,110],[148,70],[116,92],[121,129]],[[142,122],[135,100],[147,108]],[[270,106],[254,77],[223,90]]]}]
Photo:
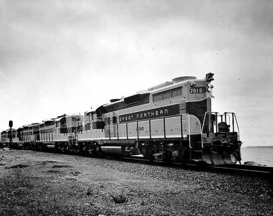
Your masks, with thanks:
[{"label": "gravelly dirt ground with sparse weeds beside the railway track", "polygon": [[[269,189],[242,195],[202,181],[165,179],[161,173],[155,166],[109,159],[1,150],[0,215],[273,214]],[[186,174],[200,176],[192,171],[181,178]]]}]

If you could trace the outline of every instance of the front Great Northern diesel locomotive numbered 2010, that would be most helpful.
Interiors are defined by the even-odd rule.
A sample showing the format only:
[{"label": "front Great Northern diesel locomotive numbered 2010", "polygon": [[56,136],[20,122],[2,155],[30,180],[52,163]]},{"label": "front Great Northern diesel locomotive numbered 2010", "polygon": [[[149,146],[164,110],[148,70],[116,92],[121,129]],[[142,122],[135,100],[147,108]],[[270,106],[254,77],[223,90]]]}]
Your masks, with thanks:
[{"label": "front Great Northern diesel locomotive numbered 2010", "polygon": [[179,77],[86,112],[79,150],[184,163],[240,161],[235,114],[211,112],[213,80],[212,73],[205,79]]}]

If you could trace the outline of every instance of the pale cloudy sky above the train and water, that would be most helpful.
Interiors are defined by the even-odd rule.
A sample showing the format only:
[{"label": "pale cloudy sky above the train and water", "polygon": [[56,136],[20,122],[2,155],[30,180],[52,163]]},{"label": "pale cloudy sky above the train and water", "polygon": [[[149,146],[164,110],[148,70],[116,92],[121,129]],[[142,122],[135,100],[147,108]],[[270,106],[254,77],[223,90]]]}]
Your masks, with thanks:
[{"label": "pale cloudy sky above the train and water", "polygon": [[0,130],[214,73],[213,111],[273,145],[272,1],[0,0]]}]

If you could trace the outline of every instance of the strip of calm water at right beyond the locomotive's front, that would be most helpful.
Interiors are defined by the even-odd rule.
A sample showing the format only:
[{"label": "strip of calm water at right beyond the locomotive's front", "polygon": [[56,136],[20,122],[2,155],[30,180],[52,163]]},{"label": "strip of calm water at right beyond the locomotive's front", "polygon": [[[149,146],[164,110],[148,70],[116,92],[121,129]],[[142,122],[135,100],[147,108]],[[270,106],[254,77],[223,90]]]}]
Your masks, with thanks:
[{"label": "strip of calm water at right beyond the locomotive's front", "polygon": [[258,164],[273,167],[273,148],[241,148],[242,164],[255,161]]}]

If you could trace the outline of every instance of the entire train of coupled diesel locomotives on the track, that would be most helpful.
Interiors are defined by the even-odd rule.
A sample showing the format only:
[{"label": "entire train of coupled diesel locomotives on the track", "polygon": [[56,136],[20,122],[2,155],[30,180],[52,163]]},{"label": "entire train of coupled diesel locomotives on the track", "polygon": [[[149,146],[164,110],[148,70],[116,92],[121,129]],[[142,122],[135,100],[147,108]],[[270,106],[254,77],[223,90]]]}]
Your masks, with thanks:
[{"label": "entire train of coupled diesel locomotives on the track", "polygon": [[182,164],[240,163],[242,141],[235,113],[211,111],[213,76],[178,77],[111,99],[83,115],[9,129],[1,132],[1,145]]}]

